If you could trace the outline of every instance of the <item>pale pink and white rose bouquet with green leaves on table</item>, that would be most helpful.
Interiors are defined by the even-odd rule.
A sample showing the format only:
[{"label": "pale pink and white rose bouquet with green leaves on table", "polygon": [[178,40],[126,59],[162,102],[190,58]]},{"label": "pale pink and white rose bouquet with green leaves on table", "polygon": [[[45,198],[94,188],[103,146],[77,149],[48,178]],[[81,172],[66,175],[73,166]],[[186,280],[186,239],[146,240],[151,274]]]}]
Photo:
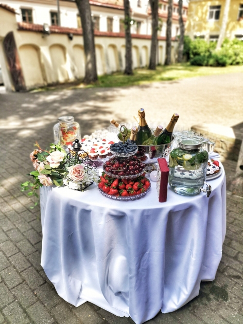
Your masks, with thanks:
[{"label": "pale pink and white rose bouquet with green leaves on table", "polygon": [[[26,181],[21,184],[22,191],[30,190],[28,196],[38,197],[36,190],[42,186],[62,186],[63,184],[70,189],[84,190],[93,182],[98,182],[99,176],[97,169],[90,166],[88,162],[79,162],[75,159],[70,164],[67,163],[67,154],[61,147],[60,143],[50,144],[50,150],[43,150],[39,144],[35,144],[35,149],[30,154],[30,159],[33,162],[35,171],[30,172],[30,175],[35,181]],[[78,156],[74,151],[75,156]],[[36,205],[37,203],[35,203]]]}]

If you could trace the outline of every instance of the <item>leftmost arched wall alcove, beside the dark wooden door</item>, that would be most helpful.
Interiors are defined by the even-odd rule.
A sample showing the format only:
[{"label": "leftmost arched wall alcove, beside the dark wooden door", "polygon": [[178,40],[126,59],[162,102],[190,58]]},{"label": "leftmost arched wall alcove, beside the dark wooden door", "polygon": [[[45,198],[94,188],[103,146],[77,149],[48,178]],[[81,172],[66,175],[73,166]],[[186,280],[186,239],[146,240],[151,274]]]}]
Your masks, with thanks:
[{"label": "leftmost arched wall alcove, beside the dark wooden door", "polygon": [[27,88],[42,86],[44,82],[40,63],[40,49],[33,44],[19,47],[20,61]]}]

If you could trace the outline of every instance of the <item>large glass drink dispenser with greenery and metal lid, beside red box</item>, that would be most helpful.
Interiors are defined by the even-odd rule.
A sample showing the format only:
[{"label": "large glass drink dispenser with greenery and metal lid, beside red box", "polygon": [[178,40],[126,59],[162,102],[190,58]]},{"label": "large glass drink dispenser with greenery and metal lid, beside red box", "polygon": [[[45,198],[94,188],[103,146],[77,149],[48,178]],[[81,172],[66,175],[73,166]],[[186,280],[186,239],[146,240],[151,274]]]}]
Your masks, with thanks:
[{"label": "large glass drink dispenser with greenery and metal lid, beside red box", "polygon": [[180,195],[193,196],[206,192],[208,152],[197,139],[181,139],[179,147],[171,151],[169,157],[169,184]]}]

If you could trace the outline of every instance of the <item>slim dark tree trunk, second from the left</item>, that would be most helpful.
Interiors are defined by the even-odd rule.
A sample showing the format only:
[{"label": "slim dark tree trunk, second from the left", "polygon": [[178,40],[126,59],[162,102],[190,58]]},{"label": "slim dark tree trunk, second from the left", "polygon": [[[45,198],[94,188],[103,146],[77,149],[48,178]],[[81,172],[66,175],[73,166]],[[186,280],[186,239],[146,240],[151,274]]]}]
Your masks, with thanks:
[{"label": "slim dark tree trunk, second from the left", "polygon": [[131,17],[130,17],[130,1],[123,0],[124,2],[124,28],[125,28],[125,71],[124,74],[133,74],[133,60],[132,60],[132,36],[131,36]]}]

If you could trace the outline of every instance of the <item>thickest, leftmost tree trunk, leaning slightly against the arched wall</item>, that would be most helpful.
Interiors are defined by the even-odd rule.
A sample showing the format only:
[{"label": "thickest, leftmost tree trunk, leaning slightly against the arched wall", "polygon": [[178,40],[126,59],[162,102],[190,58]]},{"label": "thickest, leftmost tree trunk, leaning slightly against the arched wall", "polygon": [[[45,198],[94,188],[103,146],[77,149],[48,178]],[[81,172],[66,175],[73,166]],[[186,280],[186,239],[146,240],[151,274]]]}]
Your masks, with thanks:
[{"label": "thickest, leftmost tree trunk, leaning slightly against the arched wall", "polygon": [[91,10],[88,0],[76,0],[79,15],[81,18],[84,48],[85,48],[85,78],[84,82],[89,84],[97,81],[94,29],[91,18]]}]

